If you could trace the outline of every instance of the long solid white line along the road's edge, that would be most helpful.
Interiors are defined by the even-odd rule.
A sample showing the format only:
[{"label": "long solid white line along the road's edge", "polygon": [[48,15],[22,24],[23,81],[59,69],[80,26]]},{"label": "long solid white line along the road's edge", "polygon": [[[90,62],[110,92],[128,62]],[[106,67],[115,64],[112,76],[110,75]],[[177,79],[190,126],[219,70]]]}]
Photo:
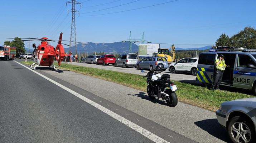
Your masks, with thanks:
[{"label": "long solid white line along the road's edge", "polygon": [[[14,62],[16,62],[16,61],[14,61]],[[92,106],[98,108],[99,110],[103,111],[103,112],[106,113],[107,115],[109,115],[109,116],[115,118],[115,119],[118,120],[119,122],[121,122],[121,123],[125,124],[126,126],[132,128],[132,129],[134,129],[135,131],[137,131],[137,132],[139,132],[140,134],[142,134],[143,136],[145,136],[145,137],[151,139],[152,141],[154,141],[154,142],[156,142],[156,143],[169,143],[168,141],[165,141],[163,138],[160,138],[160,137],[156,136],[155,134],[149,132],[148,130],[146,130],[146,129],[144,129],[144,128],[138,126],[138,125],[136,125],[135,123],[133,123],[133,122],[127,120],[126,118],[124,118],[124,117],[122,117],[122,116],[120,116],[120,115],[118,115],[118,114],[116,114],[116,113],[114,113],[114,112],[108,110],[107,108],[105,108],[105,107],[103,107],[103,106],[97,104],[96,102],[93,102],[92,100],[90,100],[90,99],[88,99],[88,98],[82,96],[81,94],[78,94],[77,92],[75,92],[75,91],[73,91],[73,90],[67,88],[66,86],[63,86],[63,85],[57,83],[56,81],[54,81],[54,80],[52,80],[52,79],[50,79],[50,78],[47,78],[46,76],[44,76],[44,75],[42,75],[42,74],[39,74],[39,73],[35,72],[33,69],[30,69],[29,67],[26,67],[25,65],[23,65],[23,64],[21,64],[21,63],[19,63],[19,62],[16,62],[16,63],[22,65],[22,66],[25,67],[25,68],[28,68],[28,69],[31,70],[32,72],[34,72],[34,73],[36,73],[36,74],[42,76],[43,78],[49,80],[49,81],[52,82],[53,84],[55,84],[55,85],[59,86],[60,88],[62,88],[62,89],[64,89],[64,90],[68,91],[69,93],[71,93],[71,94],[77,96],[78,98],[82,99],[83,101],[87,102],[88,104],[90,104],[90,105],[92,105]],[[109,105],[108,105],[108,106],[109,106]]]}]

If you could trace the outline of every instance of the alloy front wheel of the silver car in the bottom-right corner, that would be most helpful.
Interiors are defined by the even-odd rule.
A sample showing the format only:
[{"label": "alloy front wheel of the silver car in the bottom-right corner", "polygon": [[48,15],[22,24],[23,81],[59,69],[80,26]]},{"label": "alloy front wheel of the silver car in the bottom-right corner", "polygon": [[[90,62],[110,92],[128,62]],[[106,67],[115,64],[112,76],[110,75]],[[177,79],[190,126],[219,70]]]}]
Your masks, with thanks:
[{"label": "alloy front wheel of the silver car in the bottom-right corner", "polygon": [[235,143],[255,143],[255,128],[245,117],[235,116],[228,122],[228,136]]}]

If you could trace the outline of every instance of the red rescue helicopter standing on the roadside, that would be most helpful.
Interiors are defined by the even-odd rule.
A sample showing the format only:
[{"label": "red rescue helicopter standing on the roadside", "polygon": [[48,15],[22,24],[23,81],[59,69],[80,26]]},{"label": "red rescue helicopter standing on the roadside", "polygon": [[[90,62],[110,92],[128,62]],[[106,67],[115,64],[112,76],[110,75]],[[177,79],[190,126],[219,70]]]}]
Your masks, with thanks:
[{"label": "red rescue helicopter standing on the roadside", "polygon": [[[63,60],[64,56],[71,55],[71,52],[69,54],[65,54],[64,48],[62,46],[62,34],[59,35],[59,41],[54,48],[53,46],[49,45],[47,41],[53,41],[55,40],[48,39],[46,37],[43,38],[21,38],[21,39],[29,39],[29,40],[22,40],[22,41],[33,41],[33,40],[40,40],[42,41],[40,45],[37,47],[35,46],[35,43],[33,44],[33,60],[34,63],[30,64],[30,68],[35,69],[37,66],[48,66],[49,68],[54,68],[56,70],[55,65],[53,65],[54,57],[58,62],[58,65],[61,65],[61,61]],[[11,42],[17,42],[17,41],[11,41]],[[67,45],[67,44],[64,44]],[[69,45],[67,45],[69,46]],[[34,67],[33,67],[34,66]]]}]

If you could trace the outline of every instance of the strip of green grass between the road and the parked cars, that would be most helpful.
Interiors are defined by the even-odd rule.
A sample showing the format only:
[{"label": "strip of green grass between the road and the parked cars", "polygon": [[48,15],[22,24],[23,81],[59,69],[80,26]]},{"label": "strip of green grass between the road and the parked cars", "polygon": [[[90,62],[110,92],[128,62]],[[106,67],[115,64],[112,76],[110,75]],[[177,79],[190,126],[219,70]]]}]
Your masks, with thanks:
[{"label": "strip of green grass between the road and the parked cars", "polygon": [[[29,61],[24,64],[33,63]],[[55,65],[58,65],[55,63]],[[142,75],[115,72],[111,70],[89,68],[83,66],[77,66],[72,64],[61,64],[58,68],[70,70],[72,72],[81,73],[84,75],[92,76],[95,78],[111,81],[117,84],[125,85],[130,88],[138,89],[146,92],[146,78]],[[190,105],[198,106],[209,111],[217,111],[219,106],[224,101],[230,101],[234,99],[255,97],[253,95],[247,95],[239,92],[230,91],[211,91],[202,86],[191,85],[182,83],[179,81],[174,82],[177,85],[178,90],[176,94],[179,102],[187,103]]]}]

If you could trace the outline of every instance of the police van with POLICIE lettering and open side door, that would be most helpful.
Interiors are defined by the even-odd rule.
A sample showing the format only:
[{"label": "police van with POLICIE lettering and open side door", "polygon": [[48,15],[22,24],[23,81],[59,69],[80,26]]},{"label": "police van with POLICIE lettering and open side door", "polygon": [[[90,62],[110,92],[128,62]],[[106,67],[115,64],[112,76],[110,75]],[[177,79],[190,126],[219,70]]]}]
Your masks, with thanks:
[{"label": "police van with POLICIE lettering and open side door", "polygon": [[256,49],[217,47],[199,55],[197,81],[208,86],[213,82],[215,61],[220,54],[224,55],[226,67],[221,85],[250,89],[256,95]]}]

